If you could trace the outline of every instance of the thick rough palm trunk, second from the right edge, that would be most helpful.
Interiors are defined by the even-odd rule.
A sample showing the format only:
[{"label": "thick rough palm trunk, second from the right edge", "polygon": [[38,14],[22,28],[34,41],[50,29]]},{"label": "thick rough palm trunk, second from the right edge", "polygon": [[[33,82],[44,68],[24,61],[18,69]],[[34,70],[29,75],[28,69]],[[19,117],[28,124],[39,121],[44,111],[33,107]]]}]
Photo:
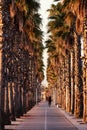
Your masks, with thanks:
[{"label": "thick rough palm trunk, second from the right edge", "polygon": [[75,34],[75,116],[83,114],[83,85],[82,85],[82,63],[81,63],[80,36]]}]

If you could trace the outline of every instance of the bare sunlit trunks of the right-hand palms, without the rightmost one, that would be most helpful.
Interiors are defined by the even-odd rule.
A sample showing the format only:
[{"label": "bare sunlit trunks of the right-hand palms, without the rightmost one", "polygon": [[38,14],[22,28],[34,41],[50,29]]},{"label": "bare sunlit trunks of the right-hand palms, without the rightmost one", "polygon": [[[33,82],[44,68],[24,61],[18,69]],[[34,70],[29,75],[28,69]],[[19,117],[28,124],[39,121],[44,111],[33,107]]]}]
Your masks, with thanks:
[{"label": "bare sunlit trunks of the right-hand palms, without the rightmost one", "polygon": [[57,96],[58,104],[79,118],[83,117],[81,37],[75,34],[74,38],[74,46],[66,50],[66,56],[61,58]]}]

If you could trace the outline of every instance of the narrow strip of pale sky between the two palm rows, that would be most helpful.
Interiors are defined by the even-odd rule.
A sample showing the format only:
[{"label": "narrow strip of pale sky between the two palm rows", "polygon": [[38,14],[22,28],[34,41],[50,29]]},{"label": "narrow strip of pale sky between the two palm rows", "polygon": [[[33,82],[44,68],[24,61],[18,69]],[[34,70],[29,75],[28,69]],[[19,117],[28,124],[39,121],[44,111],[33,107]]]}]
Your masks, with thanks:
[{"label": "narrow strip of pale sky between the two palm rows", "polygon": [[[43,45],[45,46],[45,41],[47,39],[47,23],[48,23],[48,12],[47,10],[50,9],[51,4],[53,4],[53,0],[40,0],[40,10],[39,13],[41,14],[42,17],[42,24],[43,26],[41,29],[43,30],[44,34],[44,39],[43,39]],[[42,81],[42,85],[47,87],[48,82],[47,82],[47,76],[46,76],[46,69],[47,69],[47,59],[48,59],[48,54],[47,54],[47,49],[44,50],[43,52],[43,62],[44,62],[44,80]]]}]

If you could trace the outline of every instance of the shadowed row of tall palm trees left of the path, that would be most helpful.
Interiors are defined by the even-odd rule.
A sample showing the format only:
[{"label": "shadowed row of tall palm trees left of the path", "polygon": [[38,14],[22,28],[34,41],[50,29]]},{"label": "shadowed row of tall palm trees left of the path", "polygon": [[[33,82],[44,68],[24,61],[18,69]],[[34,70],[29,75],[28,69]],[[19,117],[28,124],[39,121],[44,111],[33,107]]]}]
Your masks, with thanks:
[{"label": "shadowed row of tall palm trees left of the path", "polygon": [[0,130],[40,100],[42,18],[35,0],[0,0]]}]

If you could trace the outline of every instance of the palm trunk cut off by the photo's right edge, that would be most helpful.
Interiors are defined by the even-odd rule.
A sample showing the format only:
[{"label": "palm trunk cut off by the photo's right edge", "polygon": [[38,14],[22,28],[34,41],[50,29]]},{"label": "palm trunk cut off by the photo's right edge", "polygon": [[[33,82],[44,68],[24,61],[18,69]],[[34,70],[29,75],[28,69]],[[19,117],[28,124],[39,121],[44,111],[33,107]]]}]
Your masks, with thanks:
[{"label": "palm trunk cut off by the photo's right edge", "polygon": [[[87,8],[87,6],[85,7]],[[84,18],[84,59],[83,59],[83,120],[87,122],[87,9]]]}]

